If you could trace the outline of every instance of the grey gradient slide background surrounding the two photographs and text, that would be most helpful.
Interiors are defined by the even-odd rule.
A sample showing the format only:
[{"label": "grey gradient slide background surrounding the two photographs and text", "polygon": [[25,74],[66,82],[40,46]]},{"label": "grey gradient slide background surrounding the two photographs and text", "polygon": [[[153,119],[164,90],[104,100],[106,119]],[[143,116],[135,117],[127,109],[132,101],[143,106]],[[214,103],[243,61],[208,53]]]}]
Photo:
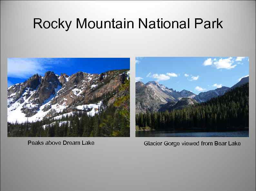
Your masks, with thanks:
[{"label": "grey gradient slide background surrounding the two photographs and text", "polygon": [[[34,17],[72,26],[33,29]],[[224,28],[194,29],[197,17],[218,17]],[[76,18],[126,18],[135,28],[76,29]],[[138,29],[138,18],[192,23],[186,30]],[[135,56],[249,56],[250,138],[135,138]],[[94,146],[28,146],[28,139],[63,138],[7,138],[8,57],[131,57],[131,137],[89,138]],[[88,140],[65,138],[82,139]],[[242,145],[150,147],[146,140]],[[255,1],[1,1],[1,190],[255,190]]]}]

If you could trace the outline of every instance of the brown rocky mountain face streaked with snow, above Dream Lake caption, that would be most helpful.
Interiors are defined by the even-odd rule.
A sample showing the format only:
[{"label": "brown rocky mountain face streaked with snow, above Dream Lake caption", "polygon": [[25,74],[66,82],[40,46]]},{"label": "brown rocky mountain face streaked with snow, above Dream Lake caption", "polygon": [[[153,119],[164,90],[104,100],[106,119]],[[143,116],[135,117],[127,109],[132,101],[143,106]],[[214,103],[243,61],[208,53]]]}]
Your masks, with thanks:
[{"label": "brown rocky mountain face streaked with snow, above Dream Lake caption", "polygon": [[35,74],[7,89],[8,121],[37,121],[88,108],[88,105],[88,112],[96,111],[103,100],[106,106],[113,103],[115,94],[120,94],[118,88],[128,78],[129,70],[102,74],[77,72],[71,76],[51,71],[44,77]]}]

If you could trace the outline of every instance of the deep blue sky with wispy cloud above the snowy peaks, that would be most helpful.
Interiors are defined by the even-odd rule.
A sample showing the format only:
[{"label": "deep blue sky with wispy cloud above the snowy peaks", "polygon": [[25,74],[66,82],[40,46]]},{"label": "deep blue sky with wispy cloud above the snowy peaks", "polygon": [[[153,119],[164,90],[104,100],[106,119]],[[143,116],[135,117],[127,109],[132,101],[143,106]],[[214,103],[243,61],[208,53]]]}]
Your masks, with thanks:
[{"label": "deep blue sky with wispy cloud above the snowy peaks", "polygon": [[100,74],[114,69],[130,69],[130,58],[8,58],[8,87],[45,72],[72,75],[76,72]]}]

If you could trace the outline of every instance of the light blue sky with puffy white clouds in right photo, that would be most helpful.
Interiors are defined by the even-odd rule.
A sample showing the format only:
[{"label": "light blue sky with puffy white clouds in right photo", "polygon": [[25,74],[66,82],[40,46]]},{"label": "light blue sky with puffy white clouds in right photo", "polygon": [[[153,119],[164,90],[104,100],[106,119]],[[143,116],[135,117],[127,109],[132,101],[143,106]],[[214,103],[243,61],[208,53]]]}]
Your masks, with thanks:
[{"label": "light blue sky with puffy white clouds in right photo", "polygon": [[136,57],[136,82],[157,81],[176,91],[231,87],[247,75],[248,57]]}]

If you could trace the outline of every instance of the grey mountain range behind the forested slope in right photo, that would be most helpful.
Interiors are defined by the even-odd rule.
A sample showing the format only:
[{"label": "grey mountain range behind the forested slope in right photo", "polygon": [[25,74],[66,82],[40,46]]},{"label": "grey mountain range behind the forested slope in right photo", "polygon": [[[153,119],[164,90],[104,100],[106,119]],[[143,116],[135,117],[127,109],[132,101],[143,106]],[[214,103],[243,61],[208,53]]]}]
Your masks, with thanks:
[{"label": "grey mountain range behind the forested slope in right photo", "polygon": [[143,82],[136,82],[136,114],[145,113],[146,111],[181,109],[187,105],[205,102],[211,98],[221,96],[227,91],[247,82],[249,82],[249,76],[242,78],[231,88],[222,86],[215,90],[201,92],[198,95],[187,90],[176,91],[155,81],[145,84]]}]

